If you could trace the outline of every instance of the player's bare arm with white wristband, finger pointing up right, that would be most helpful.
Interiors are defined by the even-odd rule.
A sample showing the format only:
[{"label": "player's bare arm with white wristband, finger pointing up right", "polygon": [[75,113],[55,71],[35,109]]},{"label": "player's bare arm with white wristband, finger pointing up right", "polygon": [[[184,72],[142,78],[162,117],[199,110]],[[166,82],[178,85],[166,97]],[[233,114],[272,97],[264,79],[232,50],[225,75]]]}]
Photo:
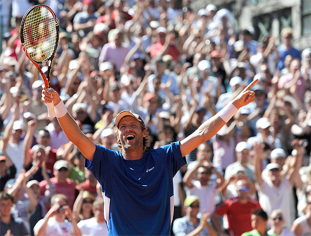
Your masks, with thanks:
[{"label": "player's bare arm with white wristband, finger pointing up right", "polygon": [[[236,112],[240,107],[245,106],[250,102],[254,101],[255,92],[250,91],[250,89],[255,83],[257,83],[257,81],[258,80],[252,81],[236,98],[232,100],[232,104],[229,103],[228,105],[226,105],[216,115],[214,115],[209,120],[204,122],[198,128],[198,130],[196,130],[193,134],[189,135],[187,138],[185,138],[180,142],[180,148],[183,157],[185,157],[188,153],[194,150],[199,144],[202,144],[203,142],[209,140],[214,135],[216,135],[216,133],[226,124],[226,122],[221,118],[221,116],[227,117],[228,114],[230,113],[230,116],[232,117],[234,115],[234,113],[232,113],[232,109],[233,110],[235,109]],[[232,107],[232,105],[234,107]]]}]

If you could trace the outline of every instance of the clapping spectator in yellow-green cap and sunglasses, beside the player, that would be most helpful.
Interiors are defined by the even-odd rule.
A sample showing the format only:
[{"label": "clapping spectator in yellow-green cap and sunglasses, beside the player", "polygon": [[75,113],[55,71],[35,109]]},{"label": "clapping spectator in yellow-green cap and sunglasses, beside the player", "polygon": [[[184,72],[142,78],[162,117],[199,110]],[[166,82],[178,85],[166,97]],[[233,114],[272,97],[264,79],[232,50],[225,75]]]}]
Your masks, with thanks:
[{"label": "clapping spectator in yellow-green cap and sunglasses, beside the player", "polygon": [[204,213],[201,218],[197,217],[200,208],[198,196],[191,195],[186,197],[184,202],[186,215],[178,218],[173,223],[175,236],[184,235],[217,235],[209,224],[209,214]]}]

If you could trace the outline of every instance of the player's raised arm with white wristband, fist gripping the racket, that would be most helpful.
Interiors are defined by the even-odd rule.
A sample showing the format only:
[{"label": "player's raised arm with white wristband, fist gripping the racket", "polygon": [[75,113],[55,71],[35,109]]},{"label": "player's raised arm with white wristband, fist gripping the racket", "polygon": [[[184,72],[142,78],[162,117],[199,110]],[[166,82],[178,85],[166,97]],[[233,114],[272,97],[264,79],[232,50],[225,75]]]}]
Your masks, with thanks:
[{"label": "player's raised arm with white wristband, fist gripping the racket", "polygon": [[[60,107],[59,109],[63,110],[60,112],[62,115],[57,115],[61,116],[57,117],[57,119],[60,126],[62,127],[62,130],[64,131],[67,138],[78,147],[83,156],[89,161],[92,161],[95,153],[95,144],[82,133],[73,117],[68,112],[66,112],[67,110],[65,109],[65,106],[62,108],[63,101],[60,99],[59,94],[54,89],[49,88],[48,90],[43,85],[42,100],[45,103],[53,102],[54,106],[56,106],[56,111],[58,107]],[[57,113],[58,112],[56,112],[56,114]],[[63,113],[65,114],[63,115]]]}]

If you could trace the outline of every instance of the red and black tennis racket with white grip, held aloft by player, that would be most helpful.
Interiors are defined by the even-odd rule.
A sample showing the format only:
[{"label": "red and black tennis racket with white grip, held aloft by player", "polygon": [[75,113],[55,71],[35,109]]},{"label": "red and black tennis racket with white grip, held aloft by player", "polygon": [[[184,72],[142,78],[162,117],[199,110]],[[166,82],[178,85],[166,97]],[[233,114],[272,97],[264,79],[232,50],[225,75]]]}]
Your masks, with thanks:
[{"label": "red and black tennis racket with white grip, held aloft by player", "polygon": [[[43,77],[47,88],[50,86],[51,66],[59,40],[59,24],[55,13],[45,5],[30,8],[21,24],[21,41],[27,57],[34,63]],[[39,64],[49,61],[47,76]],[[55,117],[53,102],[47,103],[48,116]]]}]

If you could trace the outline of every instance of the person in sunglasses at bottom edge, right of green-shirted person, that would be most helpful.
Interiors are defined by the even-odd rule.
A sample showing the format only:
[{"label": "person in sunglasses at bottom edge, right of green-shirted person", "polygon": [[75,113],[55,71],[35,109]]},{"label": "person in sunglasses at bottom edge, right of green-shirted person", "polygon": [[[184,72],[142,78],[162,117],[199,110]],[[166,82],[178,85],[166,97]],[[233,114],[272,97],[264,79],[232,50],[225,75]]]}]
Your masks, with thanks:
[{"label": "person in sunglasses at bottom edge, right of green-shirted person", "polygon": [[281,210],[273,210],[270,214],[269,223],[271,225],[270,230],[267,231],[268,235],[275,233],[279,236],[294,236],[295,234],[289,229],[284,228],[284,218]]}]

